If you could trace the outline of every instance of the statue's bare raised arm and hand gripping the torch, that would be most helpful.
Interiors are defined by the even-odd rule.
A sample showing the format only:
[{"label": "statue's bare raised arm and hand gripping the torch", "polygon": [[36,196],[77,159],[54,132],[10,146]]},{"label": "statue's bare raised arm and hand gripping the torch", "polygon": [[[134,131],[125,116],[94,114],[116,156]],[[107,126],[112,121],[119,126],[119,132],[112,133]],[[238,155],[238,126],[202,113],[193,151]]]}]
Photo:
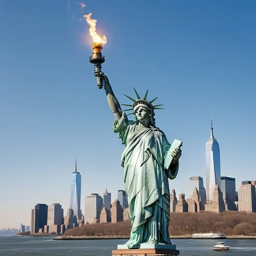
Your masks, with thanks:
[{"label": "statue's bare raised arm and hand gripping the torch", "polygon": [[120,104],[119,104],[117,98],[114,95],[114,92],[112,90],[112,87],[109,83],[107,76],[102,72],[94,72],[94,75],[102,76],[108,105],[109,105],[111,111],[113,112],[115,118],[117,119],[117,121],[119,121],[121,118],[121,115],[122,115],[122,110],[121,110],[121,107],[120,107]]}]

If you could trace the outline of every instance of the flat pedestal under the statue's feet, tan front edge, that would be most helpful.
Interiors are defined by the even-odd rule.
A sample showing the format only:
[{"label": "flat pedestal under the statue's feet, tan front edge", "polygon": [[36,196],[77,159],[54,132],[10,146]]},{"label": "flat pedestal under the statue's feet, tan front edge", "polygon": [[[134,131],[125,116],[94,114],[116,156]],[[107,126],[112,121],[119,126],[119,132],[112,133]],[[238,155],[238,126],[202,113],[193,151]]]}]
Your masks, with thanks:
[{"label": "flat pedestal under the statue's feet, tan front edge", "polygon": [[125,244],[118,244],[112,250],[112,256],[174,256],[179,255],[174,244],[140,244],[139,248],[129,249]]}]

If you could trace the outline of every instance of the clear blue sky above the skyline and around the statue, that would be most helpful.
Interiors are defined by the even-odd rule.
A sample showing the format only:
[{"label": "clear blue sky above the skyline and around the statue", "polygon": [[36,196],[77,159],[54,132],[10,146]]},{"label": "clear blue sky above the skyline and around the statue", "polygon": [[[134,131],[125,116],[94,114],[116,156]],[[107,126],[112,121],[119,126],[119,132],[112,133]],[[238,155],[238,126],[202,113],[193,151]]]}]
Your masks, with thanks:
[{"label": "clear blue sky above the skyline and around the statue", "polygon": [[[84,196],[123,189],[124,148],[93,76],[91,38],[69,0],[0,1],[0,228],[30,224],[36,203],[69,205],[70,174]],[[255,176],[256,2],[83,0],[107,37],[102,70],[120,103],[134,86],[164,103],[156,125],[183,141],[170,188],[205,178],[213,116],[221,175]],[[188,195],[188,194],[187,194]],[[187,197],[187,196],[186,196]]]}]

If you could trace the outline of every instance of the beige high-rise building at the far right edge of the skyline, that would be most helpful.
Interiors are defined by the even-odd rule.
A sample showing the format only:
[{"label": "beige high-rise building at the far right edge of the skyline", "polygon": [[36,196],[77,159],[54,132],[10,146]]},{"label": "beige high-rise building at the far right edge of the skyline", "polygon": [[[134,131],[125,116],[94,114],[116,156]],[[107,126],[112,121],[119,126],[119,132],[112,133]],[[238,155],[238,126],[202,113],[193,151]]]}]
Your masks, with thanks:
[{"label": "beige high-rise building at the far right edge of the skyline", "polygon": [[256,211],[255,185],[251,181],[242,181],[238,188],[238,210]]}]

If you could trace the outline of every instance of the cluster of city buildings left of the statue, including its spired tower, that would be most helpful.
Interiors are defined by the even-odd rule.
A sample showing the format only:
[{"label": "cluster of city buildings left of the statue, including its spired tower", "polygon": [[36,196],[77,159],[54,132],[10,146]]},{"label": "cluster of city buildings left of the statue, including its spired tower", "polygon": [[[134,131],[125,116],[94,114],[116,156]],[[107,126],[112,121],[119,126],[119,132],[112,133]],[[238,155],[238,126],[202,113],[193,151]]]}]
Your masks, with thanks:
[{"label": "cluster of city buildings left of the statue, including its spired tower", "polygon": [[[71,173],[70,207],[66,215],[59,203],[46,205],[37,203],[31,209],[31,233],[64,233],[65,230],[84,225],[84,223],[107,223],[129,220],[128,201],[124,190],[117,191],[117,199],[111,203],[111,193],[105,189],[101,197],[97,193],[85,196],[84,212],[81,212],[81,174]],[[20,230],[25,226],[21,224]]]}]

